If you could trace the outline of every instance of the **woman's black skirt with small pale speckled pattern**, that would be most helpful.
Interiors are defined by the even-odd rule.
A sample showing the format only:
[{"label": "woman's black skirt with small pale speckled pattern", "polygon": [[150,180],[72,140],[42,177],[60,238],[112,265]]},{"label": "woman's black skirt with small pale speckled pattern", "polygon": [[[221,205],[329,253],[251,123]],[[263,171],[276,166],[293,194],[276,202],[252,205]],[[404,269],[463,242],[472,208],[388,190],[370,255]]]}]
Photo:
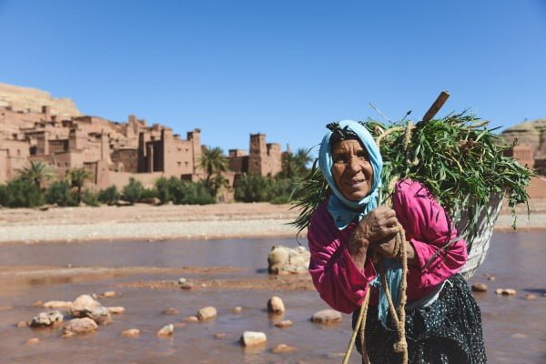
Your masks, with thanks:
[{"label": "woman's black skirt with small pale speckled pattern", "polygon": [[[359,310],[353,313],[353,327]],[[390,319],[388,319],[390,321]],[[440,297],[427,308],[406,313],[406,340],[412,364],[486,363],[480,308],[462,276],[448,279]],[[360,350],[360,338],[357,338]],[[392,349],[398,341],[394,328],[385,328],[378,308],[369,306],[366,320],[366,349],[372,364],[396,364],[400,354]]]}]

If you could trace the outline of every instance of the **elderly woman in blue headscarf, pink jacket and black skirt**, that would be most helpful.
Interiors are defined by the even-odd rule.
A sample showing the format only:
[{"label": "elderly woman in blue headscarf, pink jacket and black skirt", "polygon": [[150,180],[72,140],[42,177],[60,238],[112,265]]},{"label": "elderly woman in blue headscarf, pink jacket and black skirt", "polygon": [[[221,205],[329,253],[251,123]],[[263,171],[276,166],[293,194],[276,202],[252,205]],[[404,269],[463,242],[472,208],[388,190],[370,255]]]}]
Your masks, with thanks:
[{"label": "elderly woman in blue headscarf, pink jacket and black skirt", "polygon": [[[405,230],[408,258],[406,340],[410,363],[485,363],[480,308],[459,274],[467,259],[444,209],[417,181],[401,180],[392,208],[378,206],[382,160],[364,126],[332,123],[320,145],[319,167],[332,194],[311,217],[309,272],[329,306],[353,313],[353,324],[369,289],[365,344],[371,363],[397,363],[397,331],[384,292],[375,284],[379,268],[389,273],[393,299],[399,287],[395,257],[398,224]],[[442,249],[448,242],[450,248]],[[359,351],[359,339],[357,349]]]}]

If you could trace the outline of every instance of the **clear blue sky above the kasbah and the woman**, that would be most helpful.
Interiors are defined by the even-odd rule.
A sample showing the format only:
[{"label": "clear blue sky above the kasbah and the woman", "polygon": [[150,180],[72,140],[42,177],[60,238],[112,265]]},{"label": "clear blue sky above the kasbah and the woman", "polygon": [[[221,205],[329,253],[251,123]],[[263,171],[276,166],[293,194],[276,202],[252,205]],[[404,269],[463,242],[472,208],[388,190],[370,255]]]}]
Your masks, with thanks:
[{"label": "clear blue sky above the kasbah and the woman", "polygon": [[546,117],[546,1],[0,0],[0,82],[88,115],[202,129],[211,147],[319,143],[412,109]]}]

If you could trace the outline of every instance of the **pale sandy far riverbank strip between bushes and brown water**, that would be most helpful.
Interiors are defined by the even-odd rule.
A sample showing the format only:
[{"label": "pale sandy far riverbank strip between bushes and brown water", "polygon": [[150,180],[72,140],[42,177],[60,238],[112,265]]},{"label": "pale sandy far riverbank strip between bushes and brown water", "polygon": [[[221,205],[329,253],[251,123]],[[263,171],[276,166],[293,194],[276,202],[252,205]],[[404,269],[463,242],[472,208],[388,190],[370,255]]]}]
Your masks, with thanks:
[{"label": "pale sandy far riverbank strip between bushes and brown water", "polygon": [[[519,230],[546,229],[546,199],[518,207]],[[294,237],[298,216],[288,205],[49,207],[0,209],[0,243],[89,240],[167,240]],[[511,212],[503,208],[497,231],[510,231]]]}]

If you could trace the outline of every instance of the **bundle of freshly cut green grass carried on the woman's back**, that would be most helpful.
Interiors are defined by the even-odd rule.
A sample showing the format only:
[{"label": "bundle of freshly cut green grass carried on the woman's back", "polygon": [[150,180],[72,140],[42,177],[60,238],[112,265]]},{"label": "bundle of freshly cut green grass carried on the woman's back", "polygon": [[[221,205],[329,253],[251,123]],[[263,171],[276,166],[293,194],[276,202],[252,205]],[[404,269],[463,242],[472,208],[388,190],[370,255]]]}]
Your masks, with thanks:
[{"label": "bundle of freshly cut green grass carried on the woman's back", "polygon": [[[516,227],[515,207],[527,203],[526,188],[533,172],[507,157],[506,151],[512,146],[494,134],[495,129],[488,128],[487,121],[462,113],[415,126],[408,120],[389,124],[368,120],[361,124],[374,136],[383,157],[382,201],[389,199],[399,179],[419,181],[429,188],[452,221],[465,220],[458,227],[469,251],[483,217],[492,229],[494,221],[490,220],[496,216],[491,215],[498,213],[502,199],[508,200],[512,227]],[[311,215],[329,193],[315,162],[293,195],[298,196],[293,208],[299,209],[299,216],[292,224],[298,232],[308,227]],[[497,206],[491,209],[495,198]]]}]

